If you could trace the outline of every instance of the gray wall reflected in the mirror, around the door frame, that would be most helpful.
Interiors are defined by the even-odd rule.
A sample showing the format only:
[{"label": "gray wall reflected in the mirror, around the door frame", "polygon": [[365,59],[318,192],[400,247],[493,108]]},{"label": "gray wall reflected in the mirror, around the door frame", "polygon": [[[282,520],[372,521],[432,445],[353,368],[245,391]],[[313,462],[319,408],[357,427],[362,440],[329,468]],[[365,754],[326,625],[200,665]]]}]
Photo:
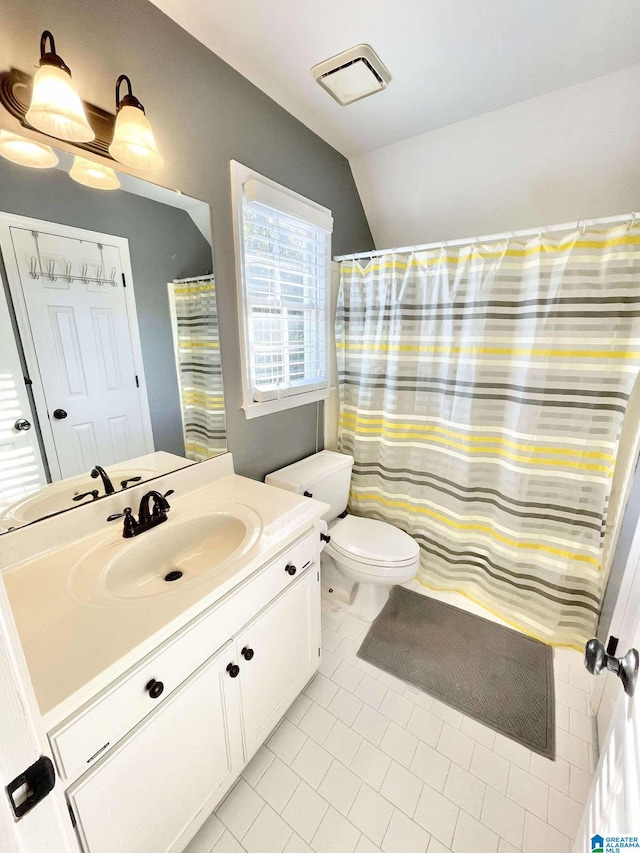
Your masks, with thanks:
[{"label": "gray wall reflected in the mirror, around the door frame", "polygon": [[[56,169],[0,158],[0,211],[127,237],[156,450],[184,456],[167,282],[211,271],[211,246],[183,210],[83,187]],[[98,460],[99,461],[99,460]]]}]

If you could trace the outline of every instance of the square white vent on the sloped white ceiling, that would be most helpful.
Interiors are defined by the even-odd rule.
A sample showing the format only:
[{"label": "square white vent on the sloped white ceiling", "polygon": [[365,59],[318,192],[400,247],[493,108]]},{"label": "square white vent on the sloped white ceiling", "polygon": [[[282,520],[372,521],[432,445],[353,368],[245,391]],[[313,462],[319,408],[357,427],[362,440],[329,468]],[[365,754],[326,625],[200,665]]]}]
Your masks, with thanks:
[{"label": "square white vent on the sloped white ceiling", "polygon": [[368,44],[358,44],[314,65],[311,73],[343,107],[381,92],[391,80],[384,63]]}]

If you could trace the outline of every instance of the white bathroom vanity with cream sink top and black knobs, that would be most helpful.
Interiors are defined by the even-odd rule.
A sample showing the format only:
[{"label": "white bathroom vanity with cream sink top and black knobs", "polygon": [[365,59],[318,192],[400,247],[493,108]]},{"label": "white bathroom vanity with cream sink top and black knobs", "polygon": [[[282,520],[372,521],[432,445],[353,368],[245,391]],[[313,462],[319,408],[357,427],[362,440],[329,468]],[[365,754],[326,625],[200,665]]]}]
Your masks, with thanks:
[{"label": "white bathroom vanity with cream sink top and black knobs", "polygon": [[235,475],[230,454],[126,502],[149,488],[175,492],[157,528],[123,538],[110,496],[65,514],[81,539],[64,516],[31,545],[11,534],[4,569],[87,853],[183,850],[320,661],[326,505]]}]

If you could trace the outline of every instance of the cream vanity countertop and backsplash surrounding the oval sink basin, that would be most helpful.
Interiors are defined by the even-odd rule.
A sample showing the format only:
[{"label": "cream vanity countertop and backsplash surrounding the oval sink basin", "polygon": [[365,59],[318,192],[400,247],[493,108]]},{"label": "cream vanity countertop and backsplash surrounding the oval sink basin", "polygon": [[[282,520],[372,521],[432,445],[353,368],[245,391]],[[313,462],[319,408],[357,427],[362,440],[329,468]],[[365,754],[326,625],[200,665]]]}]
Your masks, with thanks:
[{"label": "cream vanity countertop and backsplash surrounding the oval sink basin", "polygon": [[[4,564],[4,582],[47,728],[317,525],[327,509],[318,501],[230,471],[232,460],[226,454],[127,490],[126,500],[122,494],[113,495],[99,502],[99,510],[78,508],[2,537],[3,545],[16,537],[13,562],[5,549],[0,569]],[[176,490],[168,520],[159,529],[206,511],[212,501],[233,501],[260,515],[261,534],[247,553],[220,572],[203,575],[169,594],[83,603],[69,591],[70,572],[91,548],[122,536],[122,522],[107,525],[107,514],[121,511],[124,503],[137,509],[135,498],[139,500],[150,487]],[[154,532],[145,531],[140,537],[153,537]]]}]

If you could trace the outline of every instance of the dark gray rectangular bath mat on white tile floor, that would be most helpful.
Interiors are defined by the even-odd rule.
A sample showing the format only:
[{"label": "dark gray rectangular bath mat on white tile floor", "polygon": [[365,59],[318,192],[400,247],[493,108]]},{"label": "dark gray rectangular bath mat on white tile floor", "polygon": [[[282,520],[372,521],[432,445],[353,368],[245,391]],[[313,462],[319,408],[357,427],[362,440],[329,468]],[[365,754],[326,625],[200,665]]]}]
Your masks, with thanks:
[{"label": "dark gray rectangular bath mat on white tile floor", "polygon": [[551,646],[396,586],[358,657],[555,757]]}]

